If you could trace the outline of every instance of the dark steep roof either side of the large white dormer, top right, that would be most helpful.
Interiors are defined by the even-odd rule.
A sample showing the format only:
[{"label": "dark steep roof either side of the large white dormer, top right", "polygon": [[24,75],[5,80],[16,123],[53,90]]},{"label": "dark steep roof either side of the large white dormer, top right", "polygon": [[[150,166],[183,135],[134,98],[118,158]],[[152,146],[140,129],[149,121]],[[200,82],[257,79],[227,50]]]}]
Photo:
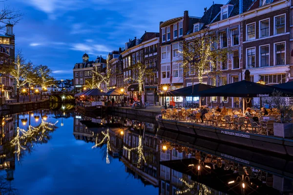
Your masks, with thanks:
[{"label": "dark steep roof either side of the large white dormer, top right", "polygon": [[[240,2],[242,2],[242,6],[239,6]],[[243,12],[246,12],[248,8],[251,6],[252,0],[230,0],[228,1],[228,4],[233,5],[232,11],[230,12],[230,15],[228,18],[237,16],[239,14],[242,14]],[[242,10],[240,9],[242,7]],[[221,11],[218,13],[218,15],[212,20],[212,22],[220,21],[221,20]]]}]

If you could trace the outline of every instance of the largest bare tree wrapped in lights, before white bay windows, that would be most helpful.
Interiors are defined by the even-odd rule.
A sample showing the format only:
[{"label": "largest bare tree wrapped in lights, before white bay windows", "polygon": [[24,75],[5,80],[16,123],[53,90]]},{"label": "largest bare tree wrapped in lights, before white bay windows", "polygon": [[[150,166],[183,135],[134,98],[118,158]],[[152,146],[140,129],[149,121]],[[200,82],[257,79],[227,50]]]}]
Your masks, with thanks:
[{"label": "largest bare tree wrapped in lights, before white bay windows", "polygon": [[217,43],[216,35],[210,35],[206,29],[181,42],[178,52],[183,61],[185,77],[195,75],[202,83],[203,75],[211,71],[219,72],[217,62],[227,62],[229,51],[228,49],[217,49]]}]

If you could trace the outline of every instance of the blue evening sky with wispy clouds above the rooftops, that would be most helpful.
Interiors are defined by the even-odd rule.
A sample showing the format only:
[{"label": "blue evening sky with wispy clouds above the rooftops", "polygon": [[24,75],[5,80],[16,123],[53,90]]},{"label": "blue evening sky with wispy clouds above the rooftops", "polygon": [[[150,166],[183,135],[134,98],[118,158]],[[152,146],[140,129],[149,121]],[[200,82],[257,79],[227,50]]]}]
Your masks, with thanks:
[{"label": "blue evening sky with wispy clouds above the rooftops", "polygon": [[[23,19],[14,27],[16,49],[27,60],[48,65],[57,79],[73,78],[72,68],[86,51],[90,60],[124,47],[145,30],[158,32],[159,22],[202,16],[213,0],[8,0]],[[228,0],[215,0],[226,4]]]}]

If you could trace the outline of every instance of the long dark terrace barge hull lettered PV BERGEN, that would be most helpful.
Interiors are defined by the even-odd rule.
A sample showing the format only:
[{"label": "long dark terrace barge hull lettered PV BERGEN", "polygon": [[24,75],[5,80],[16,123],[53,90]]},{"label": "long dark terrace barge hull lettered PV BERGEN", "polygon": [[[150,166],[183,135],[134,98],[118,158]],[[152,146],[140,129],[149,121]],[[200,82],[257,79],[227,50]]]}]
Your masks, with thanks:
[{"label": "long dark terrace barge hull lettered PV BERGEN", "polygon": [[[205,123],[187,122],[186,120],[172,120],[157,115],[159,126],[165,130],[192,137],[205,137],[217,141],[245,146],[251,149],[273,152],[281,155],[293,156],[293,139],[262,135],[251,132],[251,127],[244,131],[225,129],[221,124],[208,125]],[[248,124],[245,123],[244,126]]]}]

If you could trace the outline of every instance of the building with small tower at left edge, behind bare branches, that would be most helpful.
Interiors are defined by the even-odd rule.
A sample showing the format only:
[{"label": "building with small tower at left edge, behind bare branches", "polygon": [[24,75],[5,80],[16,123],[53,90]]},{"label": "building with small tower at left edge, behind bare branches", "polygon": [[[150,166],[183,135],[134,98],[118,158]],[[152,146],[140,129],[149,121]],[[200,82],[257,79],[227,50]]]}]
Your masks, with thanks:
[{"label": "building with small tower at left edge, behind bare branches", "polygon": [[[15,35],[13,25],[6,25],[5,35],[0,35],[0,61],[3,64],[11,64],[15,59]],[[0,83],[3,84],[5,98],[12,98],[16,94],[15,79],[8,74],[0,74]]]}]

